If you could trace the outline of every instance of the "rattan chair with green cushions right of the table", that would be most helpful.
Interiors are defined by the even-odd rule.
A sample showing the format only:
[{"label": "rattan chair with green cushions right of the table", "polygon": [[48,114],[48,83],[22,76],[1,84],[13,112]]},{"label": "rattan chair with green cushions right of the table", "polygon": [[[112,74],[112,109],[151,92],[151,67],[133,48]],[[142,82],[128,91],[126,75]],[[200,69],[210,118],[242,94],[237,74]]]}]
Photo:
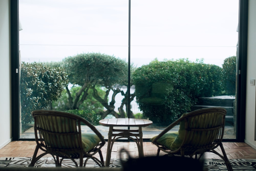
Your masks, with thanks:
[{"label": "rattan chair with green cushions right of the table", "polygon": [[[151,138],[153,144],[165,155],[195,156],[196,159],[205,152],[219,155],[226,163],[228,170],[233,170],[222,145],[226,110],[223,108],[198,109],[183,114],[178,120],[170,124],[159,135]],[[179,131],[170,130],[180,124]],[[215,148],[221,148],[219,154]]]}]

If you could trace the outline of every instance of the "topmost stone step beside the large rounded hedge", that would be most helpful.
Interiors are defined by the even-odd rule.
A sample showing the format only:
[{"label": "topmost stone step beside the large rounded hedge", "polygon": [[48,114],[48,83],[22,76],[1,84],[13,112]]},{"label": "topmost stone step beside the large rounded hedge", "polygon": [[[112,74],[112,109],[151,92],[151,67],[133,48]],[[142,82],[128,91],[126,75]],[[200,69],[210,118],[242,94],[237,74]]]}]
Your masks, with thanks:
[{"label": "topmost stone step beside the large rounded hedge", "polygon": [[232,107],[235,97],[232,96],[215,96],[215,97],[199,97],[197,105],[210,106],[227,106]]}]

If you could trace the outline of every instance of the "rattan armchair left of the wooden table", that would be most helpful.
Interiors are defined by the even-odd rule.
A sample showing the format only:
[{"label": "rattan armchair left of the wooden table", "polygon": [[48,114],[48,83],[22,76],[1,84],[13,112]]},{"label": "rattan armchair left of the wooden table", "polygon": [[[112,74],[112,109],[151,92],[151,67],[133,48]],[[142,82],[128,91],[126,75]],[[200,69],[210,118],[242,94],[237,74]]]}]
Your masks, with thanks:
[{"label": "rattan armchair left of the wooden table", "polygon": [[[60,167],[63,159],[71,159],[77,167],[78,162],[79,167],[85,167],[88,159],[104,166],[101,152],[104,137],[87,120],[71,113],[51,110],[35,110],[32,116],[37,146],[29,166],[34,166],[46,154],[51,154],[56,166]],[[88,126],[92,133],[82,133],[81,125]],[[39,149],[43,153],[37,156]],[[100,160],[93,156],[97,153]],[[86,158],[84,163],[83,158]]]}]

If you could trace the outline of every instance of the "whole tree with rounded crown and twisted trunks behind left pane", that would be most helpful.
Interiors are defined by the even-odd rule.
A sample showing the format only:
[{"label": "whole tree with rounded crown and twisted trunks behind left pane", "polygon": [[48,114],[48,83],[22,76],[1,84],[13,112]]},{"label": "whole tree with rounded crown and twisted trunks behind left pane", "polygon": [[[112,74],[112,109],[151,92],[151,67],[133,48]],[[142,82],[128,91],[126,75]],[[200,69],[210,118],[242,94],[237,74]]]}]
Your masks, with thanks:
[{"label": "whole tree with rounded crown and twisted trunks behind left pane", "polygon": [[[128,80],[128,63],[125,60],[100,53],[83,53],[65,58],[63,66],[68,72],[70,83],[81,86],[74,98],[68,92],[71,109],[78,109],[82,101],[87,98],[89,89],[92,89],[93,97],[107,109],[101,113],[102,118],[110,113],[118,117],[114,111],[114,103],[115,95],[121,92],[121,86]],[[97,86],[106,88],[104,97],[99,94]],[[111,90],[113,95],[108,104]]]}]

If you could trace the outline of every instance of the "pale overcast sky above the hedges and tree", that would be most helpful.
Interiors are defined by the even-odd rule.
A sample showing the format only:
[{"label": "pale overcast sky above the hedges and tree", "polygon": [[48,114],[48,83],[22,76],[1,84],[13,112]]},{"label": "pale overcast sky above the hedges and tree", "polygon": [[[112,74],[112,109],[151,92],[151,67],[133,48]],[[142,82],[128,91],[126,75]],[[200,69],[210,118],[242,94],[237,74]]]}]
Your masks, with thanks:
[{"label": "pale overcast sky above the hedges and tree", "polygon": [[[82,52],[128,60],[128,0],[19,0],[22,61]],[[131,0],[131,62],[236,55],[239,0]]]}]

